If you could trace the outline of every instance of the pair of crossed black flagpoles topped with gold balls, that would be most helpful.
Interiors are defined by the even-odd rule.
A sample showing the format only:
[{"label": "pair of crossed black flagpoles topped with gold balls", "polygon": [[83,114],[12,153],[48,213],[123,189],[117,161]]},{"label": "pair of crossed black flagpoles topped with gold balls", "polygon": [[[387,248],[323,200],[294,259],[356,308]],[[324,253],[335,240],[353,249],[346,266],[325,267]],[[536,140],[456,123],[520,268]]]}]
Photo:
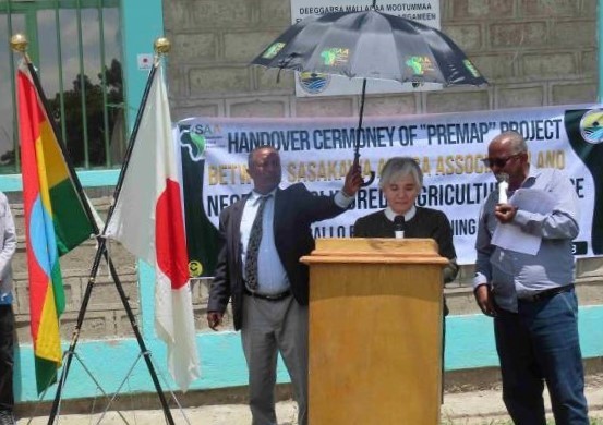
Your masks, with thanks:
[{"label": "pair of crossed black flagpoles topped with gold balls", "polygon": [[[165,40],[165,41],[160,41],[160,40]],[[130,161],[130,157],[131,157],[131,154],[132,154],[133,142],[135,141],[135,136],[136,136],[138,127],[140,127],[140,123],[141,123],[141,119],[142,119],[142,114],[143,114],[143,110],[144,110],[144,105],[146,104],[146,100],[148,98],[148,93],[150,90],[153,78],[155,77],[155,72],[156,72],[157,66],[159,64],[159,54],[165,54],[165,53],[167,53],[167,51],[169,51],[169,41],[167,41],[167,39],[158,39],[155,45],[156,45],[155,50],[156,50],[157,53],[155,56],[154,65],[153,65],[153,68],[150,70],[150,73],[148,75],[148,80],[147,80],[145,90],[144,90],[144,94],[143,94],[143,99],[141,101],[141,108],[138,109],[138,113],[136,116],[136,120],[135,120],[135,124],[134,124],[134,130],[132,131],[132,135],[130,137],[130,143],[129,143],[128,149],[125,151],[124,163],[122,166],[122,170],[121,170],[120,177],[118,179],[118,184],[116,185],[116,191],[114,191],[114,194],[113,194],[113,204],[109,208],[109,215],[107,217],[106,223],[109,222],[109,218],[111,217],[112,210],[114,208],[114,202],[117,201],[117,197],[118,197],[119,192],[121,190],[121,186],[123,184],[123,177],[125,174],[125,169],[128,167],[128,162]],[[80,179],[77,178],[77,174],[75,173],[75,168],[73,167],[73,162],[71,161],[71,157],[69,156],[67,147],[65,147],[65,145],[64,145],[64,143],[63,143],[61,136],[60,136],[60,133],[58,132],[58,129],[57,129],[57,125],[56,125],[55,121],[50,119],[49,108],[48,108],[48,100],[46,99],[46,95],[45,95],[44,89],[41,87],[41,84],[40,84],[39,77],[37,75],[37,72],[36,72],[36,70],[35,70],[35,68],[34,68],[34,65],[33,65],[33,63],[29,60],[29,57],[27,54],[27,39],[24,36],[17,34],[17,35],[15,35],[11,38],[11,47],[13,48],[14,51],[19,51],[23,54],[23,59],[25,60],[25,63],[27,64],[27,69],[29,71],[32,82],[34,83],[34,86],[35,86],[35,88],[38,93],[39,99],[43,104],[41,107],[43,107],[43,109],[46,113],[48,122],[50,122],[50,125],[52,126],[52,131],[53,131],[55,136],[57,138],[57,143],[58,143],[58,145],[61,149],[63,159],[65,161],[68,171],[70,173],[71,181],[73,182],[75,191],[76,191],[76,193],[80,197],[80,203],[82,204],[82,206],[84,208],[84,211],[85,211],[85,214],[88,218],[88,221],[91,222],[91,226],[93,227],[93,229],[95,231],[95,236],[96,236],[97,243],[98,243],[98,248],[96,251],[96,256],[94,258],[93,267],[92,267],[92,270],[91,270],[91,276],[88,278],[88,283],[86,286],[86,291],[84,293],[84,298],[82,300],[82,305],[80,307],[80,313],[77,315],[75,329],[73,330],[73,333],[72,333],[69,350],[65,352],[65,364],[63,365],[63,368],[61,371],[61,377],[60,377],[60,379],[57,384],[57,393],[56,393],[55,401],[52,403],[52,408],[51,408],[50,415],[49,415],[49,418],[48,418],[48,425],[51,425],[55,422],[55,417],[57,416],[58,411],[59,411],[59,405],[60,405],[61,396],[62,396],[62,389],[63,389],[64,382],[67,380],[67,375],[69,374],[72,357],[75,353],[75,347],[76,347],[77,340],[80,338],[80,330],[82,329],[82,325],[84,323],[85,312],[87,309],[87,305],[88,305],[88,302],[89,302],[89,299],[91,299],[91,295],[92,295],[92,290],[93,290],[93,287],[94,287],[95,281],[96,281],[96,276],[97,276],[97,272],[98,272],[98,267],[100,266],[101,257],[105,257],[108,265],[109,265],[109,271],[110,271],[111,277],[112,277],[112,279],[116,283],[116,288],[119,292],[119,295],[120,295],[120,299],[122,301],[123,307],[126,312],[128,318],[130,319],[130,324],[132,325],[134,336],[135,336],[135,338],[138,342],[138,345],[141,348],[141,352],[143,353],[143,357],[144,357],[144,360],[146,362],[146,365],[149,369],[149,374],[150,374],[153,384],[155,385],[155,389],[157,391],[159,400],[161,402],[161,406],[164,409],[164,413],[166,415],[166,418],[168,420],[168,423],[170,425],[173,425],[173,418],[172,418],[172,415],[171,415],[171,411],[170,411],[169,405],[167,403],[167,400],[164,396],[164,391],[162,391],[161,385],[159,382],[159,379],[157,377],[157,373],[155,372],[155,367],[153,365],[153,362],[150,361],[150,352],[146,348],[146,344],[145,344],[144,339],[141,335],[138,325],[136,323],[136,318],[134,316],[134,313],[132,312],[132,307],[130,306],[130,303],[128,302],[128,295],[125,294],[125,292],[123,290],[123,286],[121,283],[121,280],[119,279],[119,276],[117,274],[114,265],[111,262],[111,258],[109,257],[109,255],[107,253],[106,239],[98,233],[99,232],[98,224],[96,223],[96,220],[94,219],[91,206],[87,203],[87,199],[86,199],[84,191],[82,189],[82,184],[80,182]],[[105,227],[106,227],[106,224],[105,224]]]}]

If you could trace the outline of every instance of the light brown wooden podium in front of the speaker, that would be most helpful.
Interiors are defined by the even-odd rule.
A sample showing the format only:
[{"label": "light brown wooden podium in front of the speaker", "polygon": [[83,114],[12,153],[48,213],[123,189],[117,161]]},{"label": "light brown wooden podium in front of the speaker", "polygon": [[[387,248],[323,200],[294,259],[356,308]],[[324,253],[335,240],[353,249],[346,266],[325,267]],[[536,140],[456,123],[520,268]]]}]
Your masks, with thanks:
[{"label": "light brown wooden podium in front of the speaker", "polygon": [[439,424],[442,268],[431,239],[318,239],[310,425]]}]

